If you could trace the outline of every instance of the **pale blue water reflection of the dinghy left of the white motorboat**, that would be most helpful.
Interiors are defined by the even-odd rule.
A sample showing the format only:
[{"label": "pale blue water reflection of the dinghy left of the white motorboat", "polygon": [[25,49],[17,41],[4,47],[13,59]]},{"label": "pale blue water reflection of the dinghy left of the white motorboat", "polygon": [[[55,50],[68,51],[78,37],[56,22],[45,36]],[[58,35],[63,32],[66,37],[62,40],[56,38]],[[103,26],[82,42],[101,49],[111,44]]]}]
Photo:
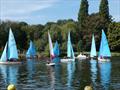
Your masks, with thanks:
[{"label": "pale blue water reflection of the dinghy left of the white motorboat", "polygon": [[71,87],[72,85],[74,71],[75,71],[75,62],[69,62],[67,64],[67,72],[68,72],[67,85],[68,87]]}]

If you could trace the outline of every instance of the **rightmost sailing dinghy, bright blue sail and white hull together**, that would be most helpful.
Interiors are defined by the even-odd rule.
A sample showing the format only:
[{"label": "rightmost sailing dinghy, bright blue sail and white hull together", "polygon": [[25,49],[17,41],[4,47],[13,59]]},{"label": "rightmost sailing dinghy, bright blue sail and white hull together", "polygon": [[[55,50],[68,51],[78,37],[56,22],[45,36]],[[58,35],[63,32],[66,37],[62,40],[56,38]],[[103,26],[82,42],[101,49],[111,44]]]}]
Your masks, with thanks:
[{"label": "rightmost sailing dinghy, bright blue sail and white hull together", "polygon": [[111,52],[108,45],[108,41],[105,35],[105,32],[102,30],[102,37],[101,37],[101,43],[100,43],[100,50],[98,55],[99,61],[110,61]]}]

